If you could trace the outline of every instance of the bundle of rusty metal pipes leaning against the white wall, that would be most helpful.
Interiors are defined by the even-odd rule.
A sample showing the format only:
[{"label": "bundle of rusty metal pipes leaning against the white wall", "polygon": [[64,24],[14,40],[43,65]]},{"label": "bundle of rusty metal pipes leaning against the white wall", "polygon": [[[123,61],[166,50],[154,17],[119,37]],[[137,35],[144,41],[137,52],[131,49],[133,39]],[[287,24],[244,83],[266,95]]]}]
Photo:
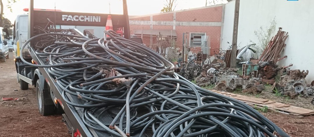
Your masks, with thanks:
[{"label": "bundle of rusty metal pipes leaning against the white wall", "polygon": [[273,61],[276,63],[280,58],[281,52],[286,46],[284,42],[288,38],[288,32],[281,31],[279,28],[277,34],[269,41],[258,61]]}]

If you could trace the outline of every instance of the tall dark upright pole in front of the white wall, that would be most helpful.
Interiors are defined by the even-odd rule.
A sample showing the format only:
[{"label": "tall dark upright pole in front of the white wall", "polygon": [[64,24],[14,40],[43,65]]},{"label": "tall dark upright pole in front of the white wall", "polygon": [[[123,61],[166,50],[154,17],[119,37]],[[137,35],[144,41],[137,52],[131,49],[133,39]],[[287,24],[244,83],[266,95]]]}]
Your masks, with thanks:
[{"label": "tall dark upright pole in front of the white wall", "polygon": [[238,39],[239,7],[240,7],[240,0],[236,0],[235,17],[233,20],[232,48],[231,48],[231,61],[230,61],[231,68],[236,68],[236,50],[237,50],[236,46],[237,46],[237,39]]}]

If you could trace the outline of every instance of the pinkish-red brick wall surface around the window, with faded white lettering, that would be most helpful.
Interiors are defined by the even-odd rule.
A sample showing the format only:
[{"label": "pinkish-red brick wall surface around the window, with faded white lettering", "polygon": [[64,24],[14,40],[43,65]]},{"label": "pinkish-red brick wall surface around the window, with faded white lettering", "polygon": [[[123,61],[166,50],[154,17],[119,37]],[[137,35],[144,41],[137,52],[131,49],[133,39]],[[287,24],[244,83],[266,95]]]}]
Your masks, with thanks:
[{"label": "pinkish-red brick wall surface around the window, with faded white lettering", "polygon": [[[130,17],[130,31],[133,34],[135,29],[172,29],[176,30],[176,47],[182,49],[182,34],[187,33],[187,41],[189,41],[189,33],[206,33],[209,36],[208,47],[210,54],[214,54],[214,50],[219,51],[221,28],[223,24],[223,7],[224,4],[207,6],[201,8],[179,10],[167,13],[157,13],[152,15],[143,15]],[[154,37],[155,39],[155,37]],[[153,43],[155,42],[152,40]],[[150,45],[149,37],[144,36],[143,42]],[[189,43],[187,42],[189,45]],[[191,51],[201,51],[200,47],[191,48]]]}]

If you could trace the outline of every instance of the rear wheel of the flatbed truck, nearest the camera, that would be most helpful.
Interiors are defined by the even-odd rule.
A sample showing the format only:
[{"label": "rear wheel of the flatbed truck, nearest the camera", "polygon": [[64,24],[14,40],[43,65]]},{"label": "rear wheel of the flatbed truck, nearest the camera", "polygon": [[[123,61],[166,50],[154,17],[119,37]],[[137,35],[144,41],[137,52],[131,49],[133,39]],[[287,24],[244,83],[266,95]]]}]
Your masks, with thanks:
[{"label": "rear wheel of the flatbed truck, nearest the camera", "polygon": [[[48,115],[52,115],[55,114],[55,105],[46,105],[46,99],[50,99],[49,97],[49,93],[47,95],[47,93],[44,93],[43,90],[40,88],[40,82],[39,80],[37,80],[36,82],[36,95],[37,95],[37,104],[38,104],[38,109],[39,109],[39,113],[42,116],[48,116]],[[52,101],[52,100],[51,100]]]}]

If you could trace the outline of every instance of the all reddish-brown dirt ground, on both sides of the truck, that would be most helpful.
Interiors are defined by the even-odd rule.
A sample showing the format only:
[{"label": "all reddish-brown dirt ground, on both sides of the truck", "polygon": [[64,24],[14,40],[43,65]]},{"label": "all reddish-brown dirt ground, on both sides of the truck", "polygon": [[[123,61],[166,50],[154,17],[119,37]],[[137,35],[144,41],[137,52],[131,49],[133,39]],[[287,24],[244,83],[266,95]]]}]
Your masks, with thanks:
[{"label": "all reddish-brown dirt ground, on both sides of the truck", "polygon": [[[17,90],[17,91],[15,91]],[[257,95],[251,95],[257,96]],[[12,53],[6,63],[0,63],[0,99],[18,97],[16,101],[0,101],[0,137],[70,137],[61,115],[41,116],[38,112],[35,88],[20,90],[16,80],[16,71]],[[272,93],[262,92],[258,97],[276,99]],[[295,105],[301,99],[281,98],[279,101]],[[314,109],[310,103],[298,103],[298,107]],[[278,100],[276,100],[278,101]],[[314,116],[303,119],[292,118],[276,113],[263,113],[291,137],[314,137]]]}]

